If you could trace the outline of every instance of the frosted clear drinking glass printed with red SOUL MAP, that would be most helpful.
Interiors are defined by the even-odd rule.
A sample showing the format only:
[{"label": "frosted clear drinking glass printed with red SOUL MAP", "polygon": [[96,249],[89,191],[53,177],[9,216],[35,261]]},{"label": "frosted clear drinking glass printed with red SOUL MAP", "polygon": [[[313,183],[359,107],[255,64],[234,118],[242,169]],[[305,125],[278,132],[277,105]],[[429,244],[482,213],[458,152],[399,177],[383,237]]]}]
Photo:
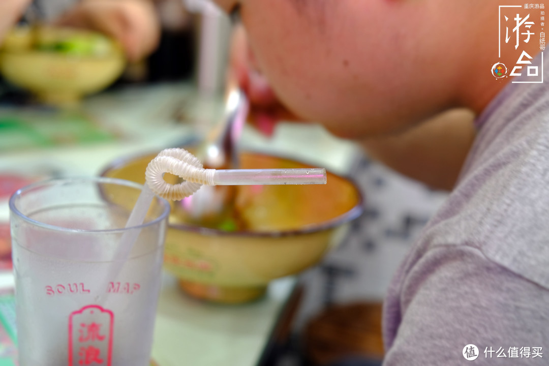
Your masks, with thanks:
[{"label": "frosted clear drinking glass printed with red SOUL MAP", "polygon": [[[125,228],[142,186],[111,178],[31,184],[10,199],[20,366],[146,366],[169,203]],[[127,257],[122,234],[138,230]]]}]

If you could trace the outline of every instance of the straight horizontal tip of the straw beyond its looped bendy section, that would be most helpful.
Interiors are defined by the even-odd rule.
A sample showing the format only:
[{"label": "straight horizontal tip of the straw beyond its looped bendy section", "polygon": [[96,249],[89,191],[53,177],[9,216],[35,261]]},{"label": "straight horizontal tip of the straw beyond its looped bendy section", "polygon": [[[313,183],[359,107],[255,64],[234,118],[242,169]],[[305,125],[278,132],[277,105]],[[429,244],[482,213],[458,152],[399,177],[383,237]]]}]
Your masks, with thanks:
[{"label": "straight horizontal tip of the straw beyond its looped bendy section", "polygon": [[214,172],[215,185],[326,184],[326,169],[229,169]]}]

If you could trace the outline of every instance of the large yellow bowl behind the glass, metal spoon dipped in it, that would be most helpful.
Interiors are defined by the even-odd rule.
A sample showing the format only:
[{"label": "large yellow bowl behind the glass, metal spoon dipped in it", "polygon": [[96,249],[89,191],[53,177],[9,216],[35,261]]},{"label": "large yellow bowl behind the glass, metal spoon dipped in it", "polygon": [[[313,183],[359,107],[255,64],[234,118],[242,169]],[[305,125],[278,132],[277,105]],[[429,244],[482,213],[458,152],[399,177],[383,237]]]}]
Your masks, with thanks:
[{"label": "large yellow bowl behind the glass, metal spoon dipped in it", "polygon": [[[145,168],[155,156],[119,160],[102,175],[144,183]],[[312,167],[250,152],[240,154],[240,161],[244,169]],[[175,177],[165,179],[177,183]],[[164,268],[200,299],[238,303],[260,297],[271,280],[318,263],[362,212],[362,195],[350,179],[328,172],[327,182],[236,186],[230,210],[238,224],[229,227],[191,222],[181,207],[184,201],[171,202]],[[111,199],[124,205],[116,192]]]}]

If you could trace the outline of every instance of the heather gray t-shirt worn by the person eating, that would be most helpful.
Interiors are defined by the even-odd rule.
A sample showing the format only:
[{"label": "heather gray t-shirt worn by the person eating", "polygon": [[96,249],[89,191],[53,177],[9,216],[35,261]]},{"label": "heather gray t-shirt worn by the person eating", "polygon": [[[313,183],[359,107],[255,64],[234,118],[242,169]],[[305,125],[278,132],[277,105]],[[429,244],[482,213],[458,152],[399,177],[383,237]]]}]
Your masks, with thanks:
[{"label": "heather gray t-shirt worn by the person eating", "polygon": [[384,366],[469,364],[469,344],[474,365],[549,363],[549,85],[509,83],[477,123],[390,285]]}]

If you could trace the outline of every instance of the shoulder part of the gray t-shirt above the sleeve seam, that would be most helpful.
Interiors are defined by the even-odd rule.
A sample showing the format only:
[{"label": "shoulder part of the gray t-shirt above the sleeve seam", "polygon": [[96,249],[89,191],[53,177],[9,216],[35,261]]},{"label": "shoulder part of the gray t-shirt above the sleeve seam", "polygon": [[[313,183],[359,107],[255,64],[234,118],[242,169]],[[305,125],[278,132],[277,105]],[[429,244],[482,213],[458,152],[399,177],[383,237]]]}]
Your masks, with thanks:
[{"label": "shoulder part of the gray t-shirt above the sleeve seam", "polygon": [[498,128],[483,127],[481,146],[420,247],[470,246],[549,288],[549,89],[522,106]]}]

